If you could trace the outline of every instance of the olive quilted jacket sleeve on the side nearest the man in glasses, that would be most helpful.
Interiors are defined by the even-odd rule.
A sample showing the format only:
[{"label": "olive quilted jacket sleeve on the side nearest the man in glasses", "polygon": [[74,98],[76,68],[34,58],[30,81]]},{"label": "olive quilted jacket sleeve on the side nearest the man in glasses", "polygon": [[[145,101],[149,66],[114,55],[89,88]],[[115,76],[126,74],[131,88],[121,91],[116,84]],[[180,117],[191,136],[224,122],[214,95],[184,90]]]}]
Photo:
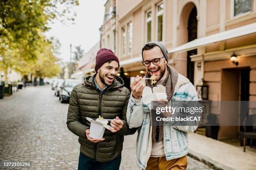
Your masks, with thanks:
[{"label": "olive quilted jacket sleeve on the side nearest the man in glasses", "polygon": [[121,117],[120,117],[120,119],[123,120],[123,128],[121,128],[117,132],[120,135],[133,135],[137,130],[137,128],[130,129],[129,126],[128,126],[128,123],[127,123],[127,119],[126,119],[126,111],[127,111],[130,96],[131,96],[131,93],[127,89],[125,104],[124,104],[124,107],[123,107],[123,110],[122,110],[122,113],[121,113]]}]

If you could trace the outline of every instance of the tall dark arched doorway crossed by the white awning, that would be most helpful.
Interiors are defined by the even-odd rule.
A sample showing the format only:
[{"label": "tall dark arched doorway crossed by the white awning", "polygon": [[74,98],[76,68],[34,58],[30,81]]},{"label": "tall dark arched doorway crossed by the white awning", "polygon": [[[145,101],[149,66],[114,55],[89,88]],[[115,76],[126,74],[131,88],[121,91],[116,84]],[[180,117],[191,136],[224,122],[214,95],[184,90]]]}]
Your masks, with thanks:
[{"label": "tall dark arched doorway crossed by the white awning", "polygon": [[[188,42],[197,38],[197,8],[193,7],[188,19]],[[197,49],[187,52],[187,78],[194,84],[194,62],[191,61],[190,56],[196,55]]]}]

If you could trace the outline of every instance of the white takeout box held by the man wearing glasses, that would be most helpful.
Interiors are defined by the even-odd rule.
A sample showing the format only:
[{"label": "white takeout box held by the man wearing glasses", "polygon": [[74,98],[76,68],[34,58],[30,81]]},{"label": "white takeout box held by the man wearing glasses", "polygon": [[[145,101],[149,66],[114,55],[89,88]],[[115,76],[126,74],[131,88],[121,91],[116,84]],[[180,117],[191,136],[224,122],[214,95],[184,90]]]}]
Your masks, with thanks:
[{"label": "white takeout box held by the man wearing glasses", "polygon": [[143,89],[142,102],[148,105],[149,109],[151,109],[151,101],[160,99],[167,99],[166,89],[163,85],[156,85],[153,89],[146,86]]}]

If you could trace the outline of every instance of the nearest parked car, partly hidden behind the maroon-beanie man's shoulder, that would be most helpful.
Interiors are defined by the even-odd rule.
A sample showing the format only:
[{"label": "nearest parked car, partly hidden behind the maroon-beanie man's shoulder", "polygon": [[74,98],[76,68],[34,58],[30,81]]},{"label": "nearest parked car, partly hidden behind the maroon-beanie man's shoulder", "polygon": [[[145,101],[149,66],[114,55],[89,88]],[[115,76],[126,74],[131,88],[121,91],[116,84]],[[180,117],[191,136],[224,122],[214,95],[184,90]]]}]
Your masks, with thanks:
[{"label": "nearest parked car, partly hidden behind the maroon-beanie man's shoulder", "polygon": [[72,92],[75,85],[82,83],[81,80],[77,79],[66,79],[61,86],[61,90],[59,92],[59,100],[60,102],[69,102],[70,93]]}]

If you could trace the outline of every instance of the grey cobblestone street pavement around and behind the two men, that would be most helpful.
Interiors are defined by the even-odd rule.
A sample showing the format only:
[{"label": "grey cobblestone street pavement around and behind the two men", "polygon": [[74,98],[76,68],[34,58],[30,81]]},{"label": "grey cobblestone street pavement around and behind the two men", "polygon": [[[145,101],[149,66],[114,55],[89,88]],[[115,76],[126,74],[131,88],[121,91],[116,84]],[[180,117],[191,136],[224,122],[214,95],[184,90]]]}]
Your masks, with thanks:
[{"label": "grey cobblestone street pavement around and behind the two men", "polygon": [[[30,162],[30,168],[77,169],[78,137],[66,125],[68,104],[59,102],[49,85],[26,87],[0,100],[0,162]],[[137,170],[136,134],[125,136],[121,170]],[[208,170],[188,157],[188,170]]]}]

